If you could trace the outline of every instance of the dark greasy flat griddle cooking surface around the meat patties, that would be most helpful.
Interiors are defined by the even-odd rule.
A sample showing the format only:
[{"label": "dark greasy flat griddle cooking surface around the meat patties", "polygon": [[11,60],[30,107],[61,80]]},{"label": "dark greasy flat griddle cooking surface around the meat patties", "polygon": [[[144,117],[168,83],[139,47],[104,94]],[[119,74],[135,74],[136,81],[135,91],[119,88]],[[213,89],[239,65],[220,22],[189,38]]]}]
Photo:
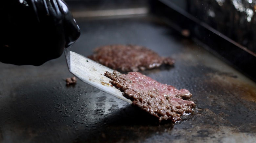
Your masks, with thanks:
[{"label": "dark greasy flat griddle cooking surface around the meat patties", "polygon": [[[196,111],[158,124],[150,116],[80,80],[66,86],[64,55],[40,67],[0,63],[0,142],[250,142],[256,139],[256,84],[198,43],[151,17],[76,20],[72,51],[136,44],[176,60],[142,73],[192,93]],[[104,73],[103,73],[104,74]]]}]

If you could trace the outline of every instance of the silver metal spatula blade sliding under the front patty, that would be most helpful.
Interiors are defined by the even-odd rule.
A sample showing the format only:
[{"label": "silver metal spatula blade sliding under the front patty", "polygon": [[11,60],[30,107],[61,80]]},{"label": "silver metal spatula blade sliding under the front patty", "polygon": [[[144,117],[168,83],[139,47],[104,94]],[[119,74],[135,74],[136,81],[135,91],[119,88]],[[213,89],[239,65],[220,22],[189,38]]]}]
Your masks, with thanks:
[{"label": "silver metal spatula blade sliding under the front patty", "polygon": [[85,56],[69,51],[67,48],[65,48],[65,56],[69,71],[77,78],[106,93],[132,103],[131,100],[122,95],[119,89],[112,86],[109,82],[110,79],[104,75],[105,71],[113,72],[113,69],[103,66]]}]

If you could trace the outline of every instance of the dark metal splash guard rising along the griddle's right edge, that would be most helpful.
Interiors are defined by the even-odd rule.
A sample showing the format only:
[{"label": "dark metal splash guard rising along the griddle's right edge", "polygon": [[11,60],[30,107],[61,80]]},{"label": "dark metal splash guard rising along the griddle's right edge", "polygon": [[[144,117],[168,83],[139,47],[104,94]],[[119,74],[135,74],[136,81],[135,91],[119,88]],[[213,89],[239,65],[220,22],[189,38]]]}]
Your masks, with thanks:
[{"label": "dark metal splash guard rising along the griddle's right edge", "polygon": [[152,12],[256,80],[255,0],[152,0]]}]

